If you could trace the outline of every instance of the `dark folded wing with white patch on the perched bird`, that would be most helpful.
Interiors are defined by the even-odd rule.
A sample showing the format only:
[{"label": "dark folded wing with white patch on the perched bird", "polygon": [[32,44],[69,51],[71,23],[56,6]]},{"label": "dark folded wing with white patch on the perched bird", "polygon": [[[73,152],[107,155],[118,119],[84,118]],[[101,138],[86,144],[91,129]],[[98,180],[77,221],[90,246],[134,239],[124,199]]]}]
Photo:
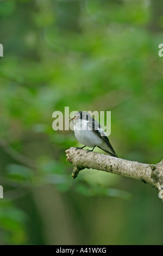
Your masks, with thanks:
[{"label": "dark folded wing with white patch on the perched bird", "polygon": [[106,133],[104,132],[104,130],[102,129],[101,125],[94,118],[92,118],[92,124],[91,124],[91,122],[89,122],[88,126],[90,127],[91,130],[96,132],[96,134],[104,140],[104,142],[111,149],[112,153],[114,153],[114,155],[116,156],[115,150],[114,150],[114,148],[112,148],[109,138],[106,135]]}]

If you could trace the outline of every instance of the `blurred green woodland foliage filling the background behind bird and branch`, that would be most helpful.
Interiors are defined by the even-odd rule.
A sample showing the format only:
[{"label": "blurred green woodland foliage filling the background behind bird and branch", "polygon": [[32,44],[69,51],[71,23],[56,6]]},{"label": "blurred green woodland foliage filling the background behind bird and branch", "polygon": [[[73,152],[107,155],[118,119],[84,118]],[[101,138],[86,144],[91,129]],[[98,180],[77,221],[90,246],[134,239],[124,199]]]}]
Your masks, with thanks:
[{"label": "blurred green woodland foliage filling the background behind bird and branch", "polygon": [[96,170],[73,181],[65,150],[79,143],[52,129],[65,106],[111,111],[118,156],[162,159],[162,10],[154,0],[0,1],[1,244],[162,244],[158,191]]}]

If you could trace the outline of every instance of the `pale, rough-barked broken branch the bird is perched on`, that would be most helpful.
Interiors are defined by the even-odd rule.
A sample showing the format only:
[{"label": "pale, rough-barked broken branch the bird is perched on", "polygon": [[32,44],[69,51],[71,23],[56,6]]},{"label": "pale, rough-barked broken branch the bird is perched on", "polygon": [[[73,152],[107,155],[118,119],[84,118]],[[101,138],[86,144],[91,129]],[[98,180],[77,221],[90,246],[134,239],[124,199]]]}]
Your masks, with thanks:
[{"label": "pale, rough-barked broken branch the bird is perched on", "polygon": [[115,173],[152,184],[159,191],[163,185],[163,160],[156,164],[139,163],[117,157],[71,147],[66,150],[68,162],[73,164],[72,178],[75,179],[80,170],[92,168],[104,172]]}]

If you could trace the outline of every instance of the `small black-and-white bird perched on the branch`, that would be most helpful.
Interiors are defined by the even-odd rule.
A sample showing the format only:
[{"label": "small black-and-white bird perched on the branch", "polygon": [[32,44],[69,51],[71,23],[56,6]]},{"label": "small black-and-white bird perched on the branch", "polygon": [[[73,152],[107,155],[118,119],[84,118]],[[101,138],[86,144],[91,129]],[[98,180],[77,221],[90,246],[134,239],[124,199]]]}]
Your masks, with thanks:
[{"label": "small black-and-white bird perched on the branch", "polygon": [[101,125],[89,113],[79,111],[70,120],[73,123],[74,135],[80,143],[84,144],[82,148],[77,147],[76,150],[85,147],[92,148],[92,150],[87,150],[89,152],[98,147],[105,153],[118,157]]}]

